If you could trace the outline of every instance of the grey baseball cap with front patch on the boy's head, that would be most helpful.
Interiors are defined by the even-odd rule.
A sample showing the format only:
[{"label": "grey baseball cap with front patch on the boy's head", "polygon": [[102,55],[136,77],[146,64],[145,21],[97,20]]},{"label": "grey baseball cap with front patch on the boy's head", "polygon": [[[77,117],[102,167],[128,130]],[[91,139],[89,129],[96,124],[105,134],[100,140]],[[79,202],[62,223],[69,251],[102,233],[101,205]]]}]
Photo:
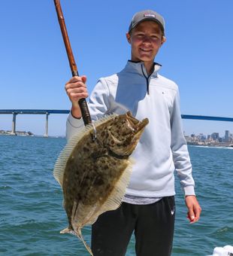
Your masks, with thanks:
[{"label": "grey baseball cap with front patch on the boy's head", "polygon": [[129,32],[135,28],[135,26],[137,26],[139,23],[145,21],[145,20],[153,20],[156,23],[159,24],[159,26],[161,26],[162,29],[162,33],[165,33],[165,20],[164,18],[156,13],[156,11],[152,11],[152,10],[145,10],[145,11],[139,11],[138,13],[136,13],[133,17],[132,17],[132,21],[129,25]]}]

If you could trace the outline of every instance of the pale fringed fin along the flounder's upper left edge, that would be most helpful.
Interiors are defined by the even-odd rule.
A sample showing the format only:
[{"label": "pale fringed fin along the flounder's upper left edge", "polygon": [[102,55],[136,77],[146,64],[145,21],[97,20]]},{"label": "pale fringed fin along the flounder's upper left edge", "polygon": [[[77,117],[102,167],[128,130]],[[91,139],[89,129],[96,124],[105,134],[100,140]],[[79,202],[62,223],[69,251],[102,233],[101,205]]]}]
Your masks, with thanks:
[{"label": "pale fringed fin along the flounder's upper left edge", "polygon": [[[117,114],[110,114],[105,117],[101,117],[99,120],[95,121],[95,128],[101,125],[102,123],[105,123],[108,120],[115,118],[116,116]],[[71,156],[72,151],[74,150],[77,143],[80,142],[80,139],[82,139],[83,136],[86,136],[87,134],[89,134],[92,130],[93,130],[92,124],[84,126],[82,129],[78,130],[77,133],[71,137],[71,139],[65,145],[65,148],[63,148],[63,150],[59,154],[59,157],[57,158],[53,168],[53,176],[56,179],[56,181],[58,181],[58,183],[61,185],[61,187],[63,184],[65,166],[69,157]]]}]

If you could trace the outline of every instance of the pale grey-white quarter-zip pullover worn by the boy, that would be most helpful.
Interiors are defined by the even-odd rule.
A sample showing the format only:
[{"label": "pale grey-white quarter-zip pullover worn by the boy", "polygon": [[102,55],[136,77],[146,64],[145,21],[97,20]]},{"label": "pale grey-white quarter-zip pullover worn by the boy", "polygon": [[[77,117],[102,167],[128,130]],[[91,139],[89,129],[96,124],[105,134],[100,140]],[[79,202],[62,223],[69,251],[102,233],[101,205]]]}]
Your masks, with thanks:
[{"label": "pale grey-white quarter-zip pullover worn by the boy", "polygon": [[[155,64],[148,76],[143,62],[128,61],[125,69],[101,78],[89,98],[92,120],[105,114],[132,114],[149,119],[132,157],[136,163],[126,194],[136,197],[168,197],[175,194],[174,170],[185,195],[194,195],[192,165],[183,136],[177,84],[158,74]],[[83,126],[71,114],[67,139]]]}]

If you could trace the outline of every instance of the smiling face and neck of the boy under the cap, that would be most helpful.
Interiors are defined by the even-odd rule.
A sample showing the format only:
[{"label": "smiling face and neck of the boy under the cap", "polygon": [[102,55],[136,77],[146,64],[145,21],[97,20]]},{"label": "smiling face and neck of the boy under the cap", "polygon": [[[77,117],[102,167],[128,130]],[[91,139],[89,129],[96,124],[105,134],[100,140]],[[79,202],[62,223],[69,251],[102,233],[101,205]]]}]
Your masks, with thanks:
[{"label": "smiling face and neck of the boy under the cap", "polygon": [[150,20],[139,23],[126,37],[132,47],[132,61],[153,63],[159,48],[165,42],[159,24]]}]

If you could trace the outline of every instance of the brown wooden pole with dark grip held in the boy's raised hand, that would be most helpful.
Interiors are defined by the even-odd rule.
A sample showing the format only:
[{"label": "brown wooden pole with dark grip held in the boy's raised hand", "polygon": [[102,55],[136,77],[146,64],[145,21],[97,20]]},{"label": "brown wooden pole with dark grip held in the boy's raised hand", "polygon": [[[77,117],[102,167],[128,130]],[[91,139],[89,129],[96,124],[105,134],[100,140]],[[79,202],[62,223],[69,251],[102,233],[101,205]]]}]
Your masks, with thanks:
[{"label": "brown wooden pole with dark grip held in the boy's raised hand", "polygon": [[[74,55],[73,55],[73,52],[72,52],[72,49],[71,49],[71,43],[69,41],[69,38],[68,38],[68,32],[67,32],[67,29],[66,29],[66,26],[65,26],[65,19],[64,19],[64,16],[62,14],[62,7],[60,5],[60,1],[59,0],[54,0],[54,5],[55,5],[55,8],[56,8],[56,14],[57,14],[57,17],[58,17],[58,20],[59,20],[59,25],[60,25],[60,29],[61,29],[61,32],[62,32],[62,38],[63,38],[63,41],[65,43],[65,49],[66,49],[66,53],[67,53],[67,56],[68,56],[68,61],[69,61],[69,64],[70,64],[70,67],[71,67],[71,73],[72,73],[72,76],[79,76],[78,75],[78,72],[77,72],[77,66],[76,66],[76,63],[75,63],[75,60],[74,60]],[[81,110],[81,113],[82,113],[82,116],[83,116],[83,122],[86,125],[88,124],[92,124],[92,119],[91,119],[91,116],[89,114],[89,109],[88,109],[88,105],[86,103],[86,99],[80,99],[78,101],[78,104],[80,106],[80,110]],[[94,126],[94,130],[95,130],[95,126]]]}]

